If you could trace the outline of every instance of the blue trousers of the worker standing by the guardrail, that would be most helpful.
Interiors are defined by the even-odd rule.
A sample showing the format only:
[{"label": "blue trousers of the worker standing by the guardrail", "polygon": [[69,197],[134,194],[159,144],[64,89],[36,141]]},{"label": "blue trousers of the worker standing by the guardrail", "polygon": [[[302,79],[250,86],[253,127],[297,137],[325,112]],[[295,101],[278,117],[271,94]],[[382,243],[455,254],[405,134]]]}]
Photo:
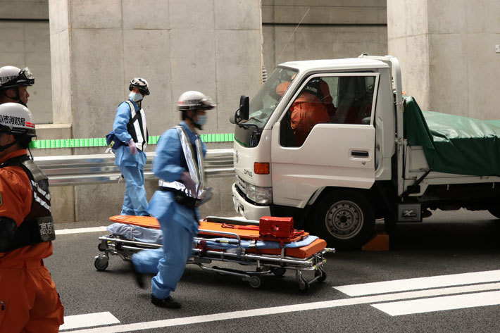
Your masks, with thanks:
[{"label": "blue trousers of the worker standing by the guardrail", "polygon": [[120,215],[149,215],[148,201],[144,189],[144,168],[119,165],[125,178],[125,196]]}]

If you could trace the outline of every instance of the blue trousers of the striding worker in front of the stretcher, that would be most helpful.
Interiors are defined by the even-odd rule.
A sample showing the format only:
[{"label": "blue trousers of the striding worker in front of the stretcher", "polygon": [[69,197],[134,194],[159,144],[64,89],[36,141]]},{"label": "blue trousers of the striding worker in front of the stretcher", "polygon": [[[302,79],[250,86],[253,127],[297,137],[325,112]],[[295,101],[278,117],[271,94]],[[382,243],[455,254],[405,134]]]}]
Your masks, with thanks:
[{"label": "blue trousers of the striding worker in front of the stretcher", "polygon": [[135,253],[132,263],[137,272],[156,273],[151,280],[151,294],[166,299],[175,291],[191,256],[194,234],[175,220],[159,220],[163,232],[163,249]]}]

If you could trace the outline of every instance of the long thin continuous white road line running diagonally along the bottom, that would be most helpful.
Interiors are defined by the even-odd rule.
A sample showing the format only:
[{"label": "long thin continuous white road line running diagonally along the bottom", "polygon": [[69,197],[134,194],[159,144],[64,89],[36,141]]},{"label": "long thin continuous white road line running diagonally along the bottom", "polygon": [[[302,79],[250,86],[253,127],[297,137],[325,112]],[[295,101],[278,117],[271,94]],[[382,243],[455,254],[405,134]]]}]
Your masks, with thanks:
[{"label": "long thin continuous white road line running diagonally along the bottom", "polygon": [[[92,329],[81,329],[71,333],[118,333],[133,332],[140,329],[154,329],[161,327],[173,327],[180,325],[199,324],[201,322],[215,322],[219,320],[231,320],[238,318],[250,318],[261,315],[276,315],[280,313],[301,312],[304,310],[317,310],[322,308],[337,308],[339,306],[353,306],[356,304],[381,303],[387,301],[397,301],[401,299],[420,299],[423,297],[442,296],[449,294],[462,294],[486,290],[500,289],[500,282],[490,284],[475,284],[463,287],[450,287],[442,289],[430,289],[419,291],[408,291],[396,294],[383,294],[377,296],[364,296],[352,299],[335,299],[332,301],[322,301],[314,303],[302,303],[292,306],[275,306],[273,308],[257,308],[253,310],[242,310],[226,313],[214,313],[212,315],[197,315],[194,317],[175,318],[167,320],[155,320],[151,322],[137,322],[134,324],[115,325],[108,327],[96,327]],[[149,305],[151,306],[151,305]]]}]

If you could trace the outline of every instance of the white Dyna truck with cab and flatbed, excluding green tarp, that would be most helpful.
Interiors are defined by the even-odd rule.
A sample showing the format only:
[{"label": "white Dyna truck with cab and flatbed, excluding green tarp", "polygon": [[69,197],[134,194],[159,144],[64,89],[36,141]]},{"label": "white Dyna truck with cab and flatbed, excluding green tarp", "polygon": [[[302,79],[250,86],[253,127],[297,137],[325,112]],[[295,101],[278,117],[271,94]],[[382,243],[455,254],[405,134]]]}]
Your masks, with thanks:
[{"label": "white Dyna truck with cab and flatbed, excluding green tarp", "polygon": [[[251,101],[241,96],[230,120],[235,210],[251,220],[292,216],[340,249],[368,241],[377,218],[391,227],[437,208],[500,218],[500,177],[433,170],[425,147],[408,144],[404,99],[392,56],[278,65]],[[318,101],[332,105],[311,106]]]}]

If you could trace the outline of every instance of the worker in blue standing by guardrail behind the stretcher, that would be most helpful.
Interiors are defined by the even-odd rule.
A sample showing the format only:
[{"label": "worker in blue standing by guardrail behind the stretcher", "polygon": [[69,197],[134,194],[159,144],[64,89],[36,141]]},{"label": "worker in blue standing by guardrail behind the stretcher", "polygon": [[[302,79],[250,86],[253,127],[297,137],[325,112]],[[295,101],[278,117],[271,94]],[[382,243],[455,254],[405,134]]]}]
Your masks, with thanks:
[{"label": "worker in blue standing by guardrail behind the stretcher", "polygon": [[115,165],[125,178],[125,196],[120,215],[146,216],[148,201],[144,189],[144,165],[148,130],[141,103],[149,95],[148,82],[140,77],[130,81],[129,99],[116,110],[113,132],[122,144],[114,151]]}]

